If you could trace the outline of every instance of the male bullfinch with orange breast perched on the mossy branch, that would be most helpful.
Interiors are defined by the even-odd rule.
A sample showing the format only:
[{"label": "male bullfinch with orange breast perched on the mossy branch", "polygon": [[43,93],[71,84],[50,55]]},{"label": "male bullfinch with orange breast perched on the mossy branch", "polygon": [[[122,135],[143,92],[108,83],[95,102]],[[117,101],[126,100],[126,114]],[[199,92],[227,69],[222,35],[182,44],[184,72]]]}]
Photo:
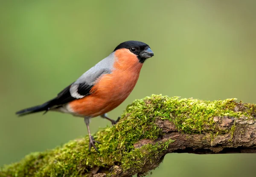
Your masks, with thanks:
[{"label": "male bullfinch with orange breast perched on the mossy branch", "polygon": [[[90,134],[89,120],[101,116],[115,124],[106,113],[119,106],[131,93],[146,59],[154,53],[139,41],[119,44],[106,58],[46,103],[16,112],[19,116],[40,111],[59,111],[83,117],[89,134],[89,150],[95,140]],[[99,142],[96,142],[99,143]]]}]

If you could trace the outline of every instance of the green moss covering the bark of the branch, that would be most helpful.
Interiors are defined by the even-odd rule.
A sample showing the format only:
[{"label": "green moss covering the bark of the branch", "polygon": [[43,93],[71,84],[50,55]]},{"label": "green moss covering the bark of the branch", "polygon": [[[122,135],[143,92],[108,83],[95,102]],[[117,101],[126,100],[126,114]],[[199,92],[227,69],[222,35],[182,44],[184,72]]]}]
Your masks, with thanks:
[{"label": "green moss covering the bark of the branch", "polygon": [[143,100],[135,100],[128,105],[118,124],[98,131],[94,138],[100,153],[94,149],[88,151],[88,136],[72,140],[55,149],[32,153],[18,163],[4,166],[0,176],[57,177],[86,175],[94,166],[110,168],[113,165],[123,169],[142,168],[148,160],[154,160],[157,153],[168,147],[172,140],[160,144],[148,144],[134,148],[134,143],[142,139],[155,140],[162,131],[154,122],[157,119],[169,120],[179,131],[187,134],[210,132],[225,133],[216,128],[215,116],[241,117],[255,113],[255,106],[250,105],[247,112],[237,112],[235,99],[213,102],[196,99],[179,99],[152,95]]}]

